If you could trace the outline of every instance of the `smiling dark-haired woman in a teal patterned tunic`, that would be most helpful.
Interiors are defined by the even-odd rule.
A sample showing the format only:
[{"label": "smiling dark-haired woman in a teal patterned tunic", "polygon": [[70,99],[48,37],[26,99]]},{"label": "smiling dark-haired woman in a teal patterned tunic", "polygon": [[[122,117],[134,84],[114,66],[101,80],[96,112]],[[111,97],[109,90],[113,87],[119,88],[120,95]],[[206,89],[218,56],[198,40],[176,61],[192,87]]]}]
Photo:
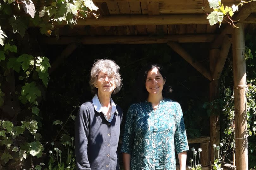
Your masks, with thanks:
[{"label": "smiling dark-haired woman in a teal patterned tunic", "polygon": [[180,104],[164,98],[171,89],[161,66],[149,65],[143,77],[142,101],[130,106],[125,124],[125,170],[176,170],[174,148],[185,170],[189,149]]}]

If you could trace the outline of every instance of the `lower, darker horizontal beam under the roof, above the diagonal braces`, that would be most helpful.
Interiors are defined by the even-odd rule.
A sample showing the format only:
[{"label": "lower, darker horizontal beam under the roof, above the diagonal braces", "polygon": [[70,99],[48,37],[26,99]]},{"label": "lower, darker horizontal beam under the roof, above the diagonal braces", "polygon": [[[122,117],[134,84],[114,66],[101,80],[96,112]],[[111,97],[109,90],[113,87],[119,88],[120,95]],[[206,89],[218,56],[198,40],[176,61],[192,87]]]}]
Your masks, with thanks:
[{"label": "lower, darker horizontal beam under the roof, above the diagonal braces", "polygon": [[166,44],[168,41],[179,43],[202,43],[211,42],[215,34],[202,35],[168,35],[168,36],[98,36],[98,37],[60,37],[58,41],[55,37],[42,37],[46,44]]}]

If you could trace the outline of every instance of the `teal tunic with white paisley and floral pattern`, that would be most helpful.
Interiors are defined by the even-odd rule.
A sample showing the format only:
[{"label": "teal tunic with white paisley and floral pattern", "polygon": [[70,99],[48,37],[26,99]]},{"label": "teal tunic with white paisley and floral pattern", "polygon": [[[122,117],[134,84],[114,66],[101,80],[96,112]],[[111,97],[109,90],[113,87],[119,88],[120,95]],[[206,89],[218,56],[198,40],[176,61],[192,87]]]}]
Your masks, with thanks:
[{"label": "teal tunic with white paisley and floral pattern", "polygon": [[180,104],[163,99],[154,111],[151,103],[130,106],[121,152],[131,155],[132,170],[176,170],[174,153],[188,149]]}]

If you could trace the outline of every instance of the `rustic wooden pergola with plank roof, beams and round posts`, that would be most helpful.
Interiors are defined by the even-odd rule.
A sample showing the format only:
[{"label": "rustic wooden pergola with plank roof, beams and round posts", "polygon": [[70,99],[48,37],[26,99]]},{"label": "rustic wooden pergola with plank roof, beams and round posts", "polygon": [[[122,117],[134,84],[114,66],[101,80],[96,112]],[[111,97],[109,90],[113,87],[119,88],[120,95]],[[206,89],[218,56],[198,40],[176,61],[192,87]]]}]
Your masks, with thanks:
[{"label": "rustic wooden pergola with plank roof, beams and round posts", "polygon": [[[218,98],[219,78],[229,49],[233,50],[235,91],[235,165],[237,170],[248,169],[247,117],[246,117],[246,70],[245,70],[245,27],[256,23],[256,2],[244,4],[232,19],[239,20],[233,28],[223,22],[219,28],[210,26],[206,13],[210,13],[207,0],[93,0],[99,7],[99,19],[88,18],[77,21],[71,29],[59,26],[60,39],[44,38],[46,44],[62,44],[66,48],[52,64],[50,73],[68,57],[79,44],[168,44],[176,53],[195,67],[210,83],[210,101]],[[227,6],[241,0],[222,0]],[[206,7],[205,11],[202,7]],[[181,43],[210,44],[210,68],[193,58]],[[218,114],[210,116],[210,138],[190,140],[202,143],[210,152],[204,153],[202,165],[213,162],[212,144],[220,143],[220,122]],[[208,156],[208,154],[210,155]],[[203,153],[202,153],[203,154]],[[210,158],[209,158],[210,157]],[[209,160],[207,160],[209,158]],[[205,168],[205,169],[207,169]]]}]

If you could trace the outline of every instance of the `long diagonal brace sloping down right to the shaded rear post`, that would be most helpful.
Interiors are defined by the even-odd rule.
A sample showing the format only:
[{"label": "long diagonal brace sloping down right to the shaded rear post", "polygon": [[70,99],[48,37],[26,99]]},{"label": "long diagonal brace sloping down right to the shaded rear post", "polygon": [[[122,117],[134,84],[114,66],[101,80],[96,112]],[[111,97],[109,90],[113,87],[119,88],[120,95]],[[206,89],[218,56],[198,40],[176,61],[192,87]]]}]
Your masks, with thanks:
[{"label": "long diagonal brace sloping down right to the shaded rear post", "polygon": [[178,53],[184,60],[186,60],[189,64],[191,64],[197,71],[204,75],[210,81],[212,80],[212,75],[210,70],[207,70],[201,63],[196,61],[192,56],[190,56],[185,49],[183,49],[178,43],[176,42],[168,42],[167,43],[176,53]]}]

